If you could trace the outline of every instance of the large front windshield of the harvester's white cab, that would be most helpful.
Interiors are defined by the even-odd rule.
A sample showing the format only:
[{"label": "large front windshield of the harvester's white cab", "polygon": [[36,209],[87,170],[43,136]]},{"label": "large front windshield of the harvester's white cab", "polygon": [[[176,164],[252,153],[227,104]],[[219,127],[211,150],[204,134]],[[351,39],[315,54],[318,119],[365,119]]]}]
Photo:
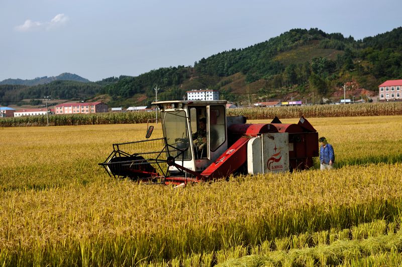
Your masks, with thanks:
[{"label": "large front windshield of the harvester's white cab", "polygon": [[[184,110],[162,112],[163,133],[166,137],[168,156],[177,157],[177,160],[191,160],[189,148],[187,118]],[[180,153],[183,153],[180,155]]]}]

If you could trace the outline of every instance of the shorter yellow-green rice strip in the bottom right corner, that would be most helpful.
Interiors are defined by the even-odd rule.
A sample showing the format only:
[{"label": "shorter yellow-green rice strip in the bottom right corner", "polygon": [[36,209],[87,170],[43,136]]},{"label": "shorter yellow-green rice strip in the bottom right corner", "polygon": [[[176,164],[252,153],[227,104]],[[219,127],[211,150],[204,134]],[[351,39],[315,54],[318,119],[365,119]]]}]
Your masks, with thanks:
[{"label": "shorter yellow-green rice strip in the bottom right corner", "polygon": [[[352,227],[352,231],[366,235],[363,239],[352,236],[349,229],[331,228],[313,235],[303,233],[278,238],[274,242],[274,249],[271,242],[264,242],[252,248],[251,255],[238,255],[236,251],[243,247],[235,247],[225,250],[226,256],[222,259],[217,256],[217,263],[218,266],[396,266],[402,263],[402,256],[398,252],[402,246],[402,231],[387,228],[391,224],[376,220]],[[320,237],[323,238],[322,242],[315,242],[314,239]]]}]

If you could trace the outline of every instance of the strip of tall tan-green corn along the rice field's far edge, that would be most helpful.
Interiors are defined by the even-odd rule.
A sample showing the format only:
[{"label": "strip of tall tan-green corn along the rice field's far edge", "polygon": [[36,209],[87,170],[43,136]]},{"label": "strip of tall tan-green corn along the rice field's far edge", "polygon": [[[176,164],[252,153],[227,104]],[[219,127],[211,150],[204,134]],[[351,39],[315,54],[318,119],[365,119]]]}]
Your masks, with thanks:
[{"label": "strip of tall tan-green corn along the rice field's far edge", "polygon": [[[248,119],[273,119],[313,117],[340,117],[340,116],[383,116],[402,115],[402,102],[365,103],[346,105],[312,105],[312,106],[280,106],[228,109],[229,116],[244,115]],[[93,124],[127,124],[146,123],[155,118],[155,112],[137,111],[124,113],[93,113],[51,115],[49,125],[93,125]],[[159,116],[160,117],[160,116]],[[0,127],[15,126],[46,126],[46,116],[26,116],[0,119]]]}]

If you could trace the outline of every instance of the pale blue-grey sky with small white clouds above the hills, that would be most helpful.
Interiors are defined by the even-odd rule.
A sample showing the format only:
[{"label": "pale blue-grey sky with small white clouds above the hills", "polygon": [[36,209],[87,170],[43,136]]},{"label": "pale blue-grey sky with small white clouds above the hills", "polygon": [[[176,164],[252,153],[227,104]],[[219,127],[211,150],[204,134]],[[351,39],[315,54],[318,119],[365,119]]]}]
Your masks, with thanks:
[{"label": "pale blue-grey sky with small white clouds above the hills", "polygon": [[137,76],[290,29],[356,40],[402,26],[401,0],[0,0],[0,81]]}]

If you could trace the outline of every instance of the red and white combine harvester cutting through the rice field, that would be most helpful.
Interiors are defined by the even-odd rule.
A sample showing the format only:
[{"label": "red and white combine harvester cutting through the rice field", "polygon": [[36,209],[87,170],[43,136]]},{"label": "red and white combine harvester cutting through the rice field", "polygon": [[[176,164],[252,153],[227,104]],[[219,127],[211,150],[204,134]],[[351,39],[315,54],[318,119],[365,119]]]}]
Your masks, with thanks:
[{"label": "red and white combine harvester cutting through the rice field", "polygon": [[[160,109],[163,138],[148,139],[151,125],[148,140],[114,144],[99,165],[116,178],[176,185],[313,166],[313,157],[319,156],[318,132],[306,118],[297,124],[281,123],[277,117],[271,123],[249,124],[244,116],[226,116],[226,103],[153,102]],[[206,131],[202,146],[193,140],[200,127]]]}]

